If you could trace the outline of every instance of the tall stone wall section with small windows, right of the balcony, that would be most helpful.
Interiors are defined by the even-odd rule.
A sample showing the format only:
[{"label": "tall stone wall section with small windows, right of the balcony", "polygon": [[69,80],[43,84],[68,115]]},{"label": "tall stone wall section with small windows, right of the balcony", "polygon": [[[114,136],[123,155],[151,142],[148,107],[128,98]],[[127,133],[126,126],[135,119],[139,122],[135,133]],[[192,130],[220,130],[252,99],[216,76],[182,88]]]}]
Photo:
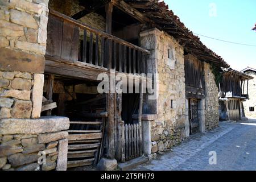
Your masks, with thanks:
[{"label": "tall stone wall section with small windows, right of the balcony", "polygon": [[[185,138],[185,72],[184,52],[172,36],[157,29],[141,33],[141,44],[151,50],[155,65],[149,72],[158,73],[157,119],[151,121],[152,154],[179,144]],[[168,49],[175,50],[174,64],[168,63]],[[147,107],[146,103],[146,107]]]}]

